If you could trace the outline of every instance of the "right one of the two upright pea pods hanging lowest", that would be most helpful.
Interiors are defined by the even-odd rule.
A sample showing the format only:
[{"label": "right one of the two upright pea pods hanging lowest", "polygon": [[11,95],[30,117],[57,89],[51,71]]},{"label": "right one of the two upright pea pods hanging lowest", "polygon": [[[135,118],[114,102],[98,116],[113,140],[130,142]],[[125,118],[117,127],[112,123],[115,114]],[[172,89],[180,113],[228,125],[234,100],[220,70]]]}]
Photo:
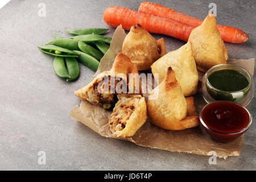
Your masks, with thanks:
[{"label": "right one of the two upright pea pods hanging lowest", "polygon": [[75,57],[65,57],[68,74],[71,76],[67,81],[76,80],[79,77],[80,69],[79,63]]}]

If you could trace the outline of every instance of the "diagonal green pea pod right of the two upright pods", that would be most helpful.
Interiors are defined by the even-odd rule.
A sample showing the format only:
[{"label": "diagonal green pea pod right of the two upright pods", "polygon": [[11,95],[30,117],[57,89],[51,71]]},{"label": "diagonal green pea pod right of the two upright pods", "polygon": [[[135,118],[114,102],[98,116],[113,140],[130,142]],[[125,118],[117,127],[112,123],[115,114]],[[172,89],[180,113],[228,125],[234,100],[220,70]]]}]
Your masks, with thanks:
[{"label": "diagonal green pea pod right of the two upright pods", "polygon": [[94,57],[84,53],[84,52],[81,52],[81,51],[74,51],[76,53],[79,53],[79,57],[78,57],[78,60],[84,64],[86,67],[92,69],[94,72],[97,71],[98,69],[98,65],[100,64],[100,62],[95,59]]}]

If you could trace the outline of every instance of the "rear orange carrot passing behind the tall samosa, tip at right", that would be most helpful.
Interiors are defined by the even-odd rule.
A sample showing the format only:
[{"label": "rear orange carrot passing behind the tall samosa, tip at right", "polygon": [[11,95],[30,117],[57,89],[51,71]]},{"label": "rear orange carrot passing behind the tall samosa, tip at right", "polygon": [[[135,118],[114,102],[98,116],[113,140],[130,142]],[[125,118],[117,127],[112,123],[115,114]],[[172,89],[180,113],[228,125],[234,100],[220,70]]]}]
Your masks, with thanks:
[{"label": "rear orange carrot passing behind the tall samosa, tip at right", "polygon": [[[175,22],[187,24],[188,26],[197,27],[203,20],[193,18],[182,14],[178,11],[172,10],[166,6],[158,5],[151,2],[143,2],[139,6],[139,13],[146,13],[162,18],[167,18],[174,20]],[[218,31],[220,31],[221,38],[224,42],[229,43],[243,43],[249,39],[249,36],[242,30],[234,27],[226,27],[220,24],[217,24]]]}]

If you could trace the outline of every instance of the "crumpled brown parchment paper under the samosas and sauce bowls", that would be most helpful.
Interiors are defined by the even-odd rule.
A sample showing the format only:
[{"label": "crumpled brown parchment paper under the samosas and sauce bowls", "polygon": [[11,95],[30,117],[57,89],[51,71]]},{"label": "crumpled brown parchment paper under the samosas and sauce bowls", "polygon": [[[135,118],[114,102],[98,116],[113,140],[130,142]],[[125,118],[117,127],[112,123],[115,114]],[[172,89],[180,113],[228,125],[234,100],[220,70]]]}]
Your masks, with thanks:
[{"label": "crumpled brown parchment paper under the samosas and sauce bowls", "polygon": [[[98,70],[93,77],[112,67],[115,56],[122,51],[122,43],[125,36],[126,34],[122,27],[117,27],[109,51],[102,57]],[[229,59],[228,63],[240,65],[253,75],[254,61],[254,59]],[[199,72],[200,78],[203,77],[203,75],[204,73]],[[206,102],[201,93],[197,93],[194,97],[196,109],[199,113]],[[106,111],[102,109],[102,107],[92,105],[84,100],[81,101],[80,106],[75,106],[70,111],[70,115],[76,121],[83,123],[104,137],[114,138],[112,132],[109,130],[108,124],[110,114],[110,111]],[[129,140],[130,142],[144,147],[199,155],[212,155],[209,152],[215,151],[219,158],[224,159],[228,156],[240,155],[243,143],[243,136],[229,143],[218,143],[212,140],[201,126],[183,131],[169,131],[152,125],[148,119],[133,137],[118,139]]]}]

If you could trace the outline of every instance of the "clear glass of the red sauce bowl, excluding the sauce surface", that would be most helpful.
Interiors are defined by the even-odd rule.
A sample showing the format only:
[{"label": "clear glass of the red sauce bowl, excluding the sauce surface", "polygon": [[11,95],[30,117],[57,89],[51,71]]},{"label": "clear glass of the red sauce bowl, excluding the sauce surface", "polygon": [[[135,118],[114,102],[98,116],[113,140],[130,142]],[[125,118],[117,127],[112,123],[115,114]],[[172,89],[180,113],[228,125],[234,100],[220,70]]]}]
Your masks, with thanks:
[{"label": "clear glass of the red sauce bowl, excluding the sauce surface", "polygon": [[[215,101],[215,102],[231,102],[231,101]],[[210,104],[213,104],[215,102],[211,102]],[[236,102],[233,102],[233,103],[237,104]],[[209,106],[210,104],[207,104],[207,105],[204,106],[204,108],[200,112],[200,117],[199,118],[200,118],[201,125],[204,127],[205,131],[207,131],[207,133],[210,135],[210,137],[212,139],[216,140],[217,142],[221,142],[221,143],[231,142],[232,140],[237,139],[238,137],[240,137],[251,126],[251,122],[252,122],[251,114],[249,113],[249,111],[245,107],[241,106],[240,104],[237,104],[242,109],[245,109],[247,111],[249,117],[250,117],[250,121],[249,121],[248,125],[245,128],[243,128],[240,131],[234,132],[234,133],[223,133],[223,132],[211,129],[210,127],[207,126],[207,124],[203,121],[203,118],[202,118],[202,114],[204,112],[204,109],[207,106]]]}]

